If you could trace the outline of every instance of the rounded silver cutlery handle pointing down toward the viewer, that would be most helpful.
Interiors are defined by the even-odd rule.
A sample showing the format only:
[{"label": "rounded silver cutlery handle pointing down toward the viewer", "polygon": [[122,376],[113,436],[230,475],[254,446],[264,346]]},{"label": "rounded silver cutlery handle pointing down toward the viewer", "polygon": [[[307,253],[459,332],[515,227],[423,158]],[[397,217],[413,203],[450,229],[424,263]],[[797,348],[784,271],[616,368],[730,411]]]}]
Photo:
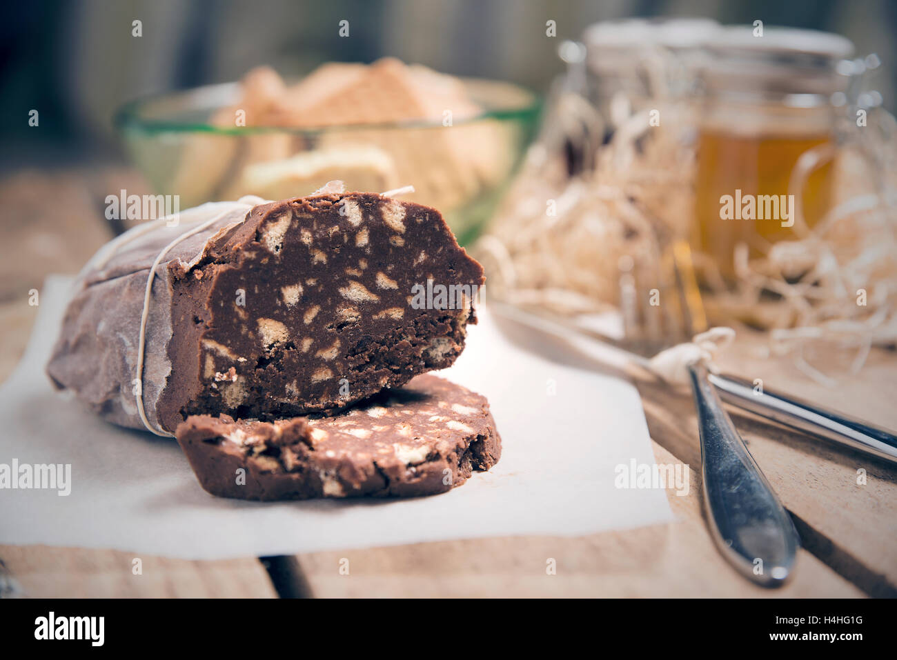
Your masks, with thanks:
[{"label": "rounded silver cutlery handle pointing down toward the viewer", "polygon": [[794,569],[800,538],[788,511],[710,385],[707,369],[689,366],[701,430],[704,506],[719,550],[761,586],[780,586]]}]

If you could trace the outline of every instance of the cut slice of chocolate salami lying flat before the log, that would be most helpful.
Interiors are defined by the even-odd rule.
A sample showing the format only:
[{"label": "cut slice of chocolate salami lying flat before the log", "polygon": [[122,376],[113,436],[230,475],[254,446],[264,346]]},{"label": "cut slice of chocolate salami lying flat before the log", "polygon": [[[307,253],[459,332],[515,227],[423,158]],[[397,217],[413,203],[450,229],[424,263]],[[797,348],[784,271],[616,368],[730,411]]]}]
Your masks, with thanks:
[{"label": "cut slice of chocolate salami lying flat before the log", "polygon": [[335,417],[191,416],[177,438],[205,491],[239,499],[430,495],[501,456],[485,398],[431,375]]}]

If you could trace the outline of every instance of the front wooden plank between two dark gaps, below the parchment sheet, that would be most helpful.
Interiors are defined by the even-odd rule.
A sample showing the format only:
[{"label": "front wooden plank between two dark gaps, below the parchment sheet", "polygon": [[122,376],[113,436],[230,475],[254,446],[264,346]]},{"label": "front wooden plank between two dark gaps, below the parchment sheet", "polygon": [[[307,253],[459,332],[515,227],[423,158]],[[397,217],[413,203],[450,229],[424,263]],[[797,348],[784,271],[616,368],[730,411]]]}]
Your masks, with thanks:
[{"label": "front wooden plank between two dark gaps, below the parchment sheet", "polygon": [[[658,463],[675,456],[654,445]],[[701,517],[700,477],[670,494],[677,522],[577,538],[527,536],[417,543],[300,556],[317,596],[859,597],[863,593],[806,551],[795,577],[768,590],[736,574]],[[556,561],[556,575],[546,573]],[[341,574],[348,560],[348,575]],[[341,564],[341,561],[343,563]]]}]

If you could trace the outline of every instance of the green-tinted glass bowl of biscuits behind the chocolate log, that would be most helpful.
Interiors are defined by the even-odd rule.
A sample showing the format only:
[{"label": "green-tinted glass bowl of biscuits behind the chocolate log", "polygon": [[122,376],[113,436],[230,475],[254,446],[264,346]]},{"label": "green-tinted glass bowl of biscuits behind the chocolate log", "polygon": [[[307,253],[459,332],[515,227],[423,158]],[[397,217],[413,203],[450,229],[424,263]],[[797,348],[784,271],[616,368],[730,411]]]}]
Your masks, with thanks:
[{"label": "green-tinted glass bowl of biscuits behind the chocolate log", "polygon": [[[386,192],[438,209],[462,244],[492,214],[536,132],[541,101],[517,85],[462,79],[483,109],[474,117],[376,125],[222,126],[239,83],[135,100],[115,124],[126,152],[156,192],[180,208],[259,195],[308,195],[331,179],[347,190]],[[213,117],[216,120],[213,122]]]}]

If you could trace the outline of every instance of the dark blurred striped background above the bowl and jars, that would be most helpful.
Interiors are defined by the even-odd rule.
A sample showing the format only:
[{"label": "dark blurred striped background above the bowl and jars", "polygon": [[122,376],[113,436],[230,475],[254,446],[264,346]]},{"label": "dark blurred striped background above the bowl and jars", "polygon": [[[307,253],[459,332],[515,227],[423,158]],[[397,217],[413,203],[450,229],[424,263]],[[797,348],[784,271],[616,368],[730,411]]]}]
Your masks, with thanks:
[{"label": "dark blurred striped background above the bowl and jars", "polygon": [[[0,168],[113,159],[114,111],[145,94],[239,80],[256,65],[285,76],[330,60],[396,56],[448,74],[545,91],[557,47],[591,23],[628,16],[701,16],[722,23],[838,32],[858,52],[893,61],[889,0],[51,0],[7,3],[0,24]],[[143,22],[143,37],[131,23]],[[338,22],[351,25],[349,39]],[[545,22],[557,37],[545,37]],[[894,78],[878,87],[893,108]],[[39,108],[39,130],[28,111]]]}]

